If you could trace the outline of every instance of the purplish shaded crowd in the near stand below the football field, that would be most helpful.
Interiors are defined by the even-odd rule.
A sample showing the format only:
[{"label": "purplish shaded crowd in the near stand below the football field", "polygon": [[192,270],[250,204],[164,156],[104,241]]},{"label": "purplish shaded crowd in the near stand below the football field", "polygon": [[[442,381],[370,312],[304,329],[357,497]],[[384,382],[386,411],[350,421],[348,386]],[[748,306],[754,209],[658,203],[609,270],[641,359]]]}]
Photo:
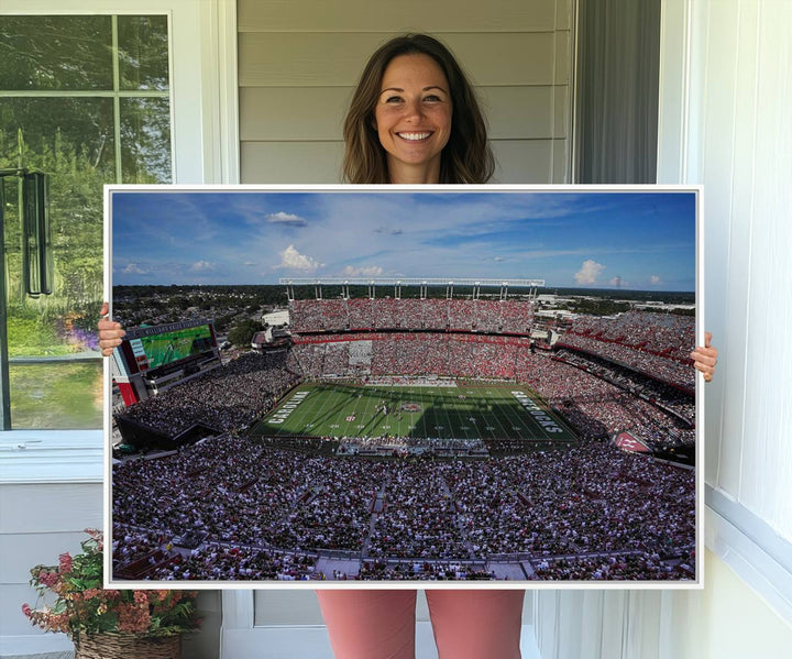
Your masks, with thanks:
[{"label": "purplish shaded crowd in the near stand below the football field", "polygon": [[[310,568],[334,551],[363,563],[635,551],[657,563],[693,543],[694,492],[691,472],[607,442],[431,462],[318,457],[222,436],[114,466],[113,565],[157,546],[173,558],[157,579],[322,578]],[[198,531],[199,547],[176,547]]]}]

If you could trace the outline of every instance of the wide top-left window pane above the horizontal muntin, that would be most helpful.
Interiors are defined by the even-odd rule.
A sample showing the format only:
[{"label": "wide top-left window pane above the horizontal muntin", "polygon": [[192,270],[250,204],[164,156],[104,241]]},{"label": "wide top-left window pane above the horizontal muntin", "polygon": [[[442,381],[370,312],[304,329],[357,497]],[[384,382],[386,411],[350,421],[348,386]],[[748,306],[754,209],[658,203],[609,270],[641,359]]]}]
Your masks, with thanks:
[{"label": "wide top-left window pane above the horizontal muntin", "polygon": [[0,89],[112,89],[110,17],[0,17]]}]

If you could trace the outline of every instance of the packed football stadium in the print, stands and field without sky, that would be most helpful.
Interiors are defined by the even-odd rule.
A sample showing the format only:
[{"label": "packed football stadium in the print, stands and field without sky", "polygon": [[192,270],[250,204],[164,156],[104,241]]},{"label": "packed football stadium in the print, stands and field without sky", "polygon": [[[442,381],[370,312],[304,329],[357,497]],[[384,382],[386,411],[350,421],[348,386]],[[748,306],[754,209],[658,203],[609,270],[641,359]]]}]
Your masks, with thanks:
[{"label": "packed football stadium in the print, stands and field without sky", "polygon": [[285,282],[288,344],[221,363],[194,331],[200,367],[127,378],[113,579],[695,579],[692,317],[311,283]]}]

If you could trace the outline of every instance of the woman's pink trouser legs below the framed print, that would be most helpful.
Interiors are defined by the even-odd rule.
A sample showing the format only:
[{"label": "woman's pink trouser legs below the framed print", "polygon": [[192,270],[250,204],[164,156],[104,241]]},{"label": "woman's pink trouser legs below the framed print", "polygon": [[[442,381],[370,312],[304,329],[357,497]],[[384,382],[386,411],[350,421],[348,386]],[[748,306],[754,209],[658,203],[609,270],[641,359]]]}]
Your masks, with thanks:
[{"label": "woman's pink trouser legs below the framed print", "polygon": [[[336,659],[413,659],[416,591],[317,591]],[[440,659],[519,659],[525,591],[427,591]]]}]

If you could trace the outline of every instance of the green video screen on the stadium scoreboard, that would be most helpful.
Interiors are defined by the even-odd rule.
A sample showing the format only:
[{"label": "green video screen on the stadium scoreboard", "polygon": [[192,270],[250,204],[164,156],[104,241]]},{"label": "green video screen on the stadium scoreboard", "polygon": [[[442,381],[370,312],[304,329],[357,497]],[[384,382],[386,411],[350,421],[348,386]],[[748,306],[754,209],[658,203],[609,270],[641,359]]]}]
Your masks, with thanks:
[{"label": "green video screen on the stadium scoreboard", "polygon": [[130,334],[127,338],[139,372],[153,371],[215,348],[215,333],[208,322],[191,327],[139,328]]}]

